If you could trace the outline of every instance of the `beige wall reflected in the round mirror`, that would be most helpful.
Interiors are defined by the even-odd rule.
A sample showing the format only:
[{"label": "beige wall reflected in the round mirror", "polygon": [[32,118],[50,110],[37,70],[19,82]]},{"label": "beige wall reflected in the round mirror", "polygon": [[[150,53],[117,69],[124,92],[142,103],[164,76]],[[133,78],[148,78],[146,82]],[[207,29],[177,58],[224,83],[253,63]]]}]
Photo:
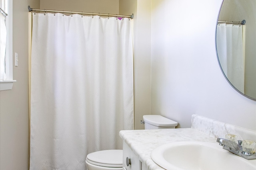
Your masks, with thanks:
[{"label": "beige wall reflected in the round mirror", "polygon": [[256,1],[225,0],[219,21],[246,20],[244,94],[256,98]]}]

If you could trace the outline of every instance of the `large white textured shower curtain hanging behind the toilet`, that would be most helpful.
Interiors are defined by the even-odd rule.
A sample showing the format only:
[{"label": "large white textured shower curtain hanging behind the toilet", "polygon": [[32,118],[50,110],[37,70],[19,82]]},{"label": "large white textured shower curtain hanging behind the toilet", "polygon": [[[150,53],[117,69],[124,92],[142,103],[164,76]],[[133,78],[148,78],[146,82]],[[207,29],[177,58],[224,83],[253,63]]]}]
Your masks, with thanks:
[{"label": "large white textured shower curtain hanging behind the toilet", "polygon": [[85,170],[133,129],[131,22],[32,15],[30,170]]}]

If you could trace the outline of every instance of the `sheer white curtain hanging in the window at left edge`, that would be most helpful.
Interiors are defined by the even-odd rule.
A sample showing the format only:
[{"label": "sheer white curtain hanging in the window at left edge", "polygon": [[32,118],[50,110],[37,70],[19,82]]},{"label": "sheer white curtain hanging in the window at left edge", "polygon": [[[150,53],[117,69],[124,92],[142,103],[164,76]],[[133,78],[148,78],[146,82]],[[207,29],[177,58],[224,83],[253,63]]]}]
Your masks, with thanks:
[{"label": "sheer white curtain hanging in the window at left edge", "polygon": [[6,26],[5,18],[0,14],[0,80],[6,80],[5,51],[6,51]]}]

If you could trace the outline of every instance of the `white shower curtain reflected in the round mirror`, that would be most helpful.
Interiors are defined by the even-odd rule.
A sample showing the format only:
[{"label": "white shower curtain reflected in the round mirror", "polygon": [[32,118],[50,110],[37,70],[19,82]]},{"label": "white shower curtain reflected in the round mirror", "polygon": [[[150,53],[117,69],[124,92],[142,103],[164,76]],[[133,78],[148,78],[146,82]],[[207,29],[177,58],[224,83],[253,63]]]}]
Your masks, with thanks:
[{"label": "white shower curtain reflected in the round mirror", "polygon": [[216,46],[220,65],[229,82],[244,93],[244,45],[241,25],[218,24]]}]

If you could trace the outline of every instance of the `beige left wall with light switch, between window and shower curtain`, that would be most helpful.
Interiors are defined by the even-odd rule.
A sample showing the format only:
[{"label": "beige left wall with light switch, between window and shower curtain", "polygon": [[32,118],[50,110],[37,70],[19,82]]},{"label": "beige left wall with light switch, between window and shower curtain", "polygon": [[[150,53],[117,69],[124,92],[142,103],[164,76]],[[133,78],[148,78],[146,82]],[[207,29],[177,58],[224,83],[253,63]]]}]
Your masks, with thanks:
[{"label": "beige left wall with light switch, between window and shower curtain", "polygon": [[13,0],[13,53],[19,63],[12,90],[0,91],[1,170],[28,170],[28,5],[39,8],[40,1]]}]

